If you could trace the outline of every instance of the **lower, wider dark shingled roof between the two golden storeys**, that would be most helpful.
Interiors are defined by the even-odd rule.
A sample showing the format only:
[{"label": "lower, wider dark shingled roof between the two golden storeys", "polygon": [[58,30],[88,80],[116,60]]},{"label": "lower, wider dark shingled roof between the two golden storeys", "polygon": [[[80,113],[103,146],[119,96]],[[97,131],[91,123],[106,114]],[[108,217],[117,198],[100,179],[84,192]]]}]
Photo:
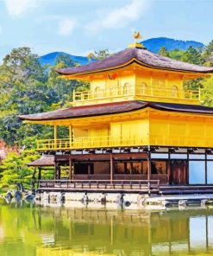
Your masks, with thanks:
[{"label": "lower, wider dark shingled roof between the two golden storeys", "polygon": [[24,120],[56,120],[66,118],[84,118],[108,114],[116,114],[122,112],[132,112],[146,107],[159,109],[161,111],[172,112],[192,112],[201,114],[213,114],[213,107],[173,104],[161,102],[146,102],[140,100],[131,100],[115,103],[106,103],[91,106],[73,106],[53,112],[43,112],[30,115],[21,115],[19,118]]}]

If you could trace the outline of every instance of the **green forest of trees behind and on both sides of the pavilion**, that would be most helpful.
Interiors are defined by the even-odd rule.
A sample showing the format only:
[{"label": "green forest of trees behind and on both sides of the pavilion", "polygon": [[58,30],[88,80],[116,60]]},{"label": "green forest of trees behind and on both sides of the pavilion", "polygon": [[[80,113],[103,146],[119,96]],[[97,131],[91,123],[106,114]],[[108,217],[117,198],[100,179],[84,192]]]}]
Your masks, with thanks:
[{"label": "green forest of trees behind and on both sides of the pavilion", "polygon": [[[97,59],[109,55],[107,49],[95,52]],[[159,54],[178,61],[213,66],[213,40],[204,48],[167,51],[161,47]],[[14,186],[22,181],[29,187],[32,168],[26,163],[40,157],[35,149],[38,138],[52,138],[53,128],[45,125],[28,125],[19,114],[53,111],[71,106],[72,90],[84,91],[89,85],[76,80],[62,80],[54,69],[74,67],[69,57],[60,55],[54,67],[41,66],[39,55],[30,48],[14,48],[0,65],[0,140],[8,147],[18,149],[9,153],[0,165],[0,188]],[[203,104],[213,106],[213,77],[185,82],[185,89],[202,88]],[[63,132],[63,131],[61,131]],[[1,162],[0,162],[1,163]],[[50,177],[47,172],[45,177]]]}]

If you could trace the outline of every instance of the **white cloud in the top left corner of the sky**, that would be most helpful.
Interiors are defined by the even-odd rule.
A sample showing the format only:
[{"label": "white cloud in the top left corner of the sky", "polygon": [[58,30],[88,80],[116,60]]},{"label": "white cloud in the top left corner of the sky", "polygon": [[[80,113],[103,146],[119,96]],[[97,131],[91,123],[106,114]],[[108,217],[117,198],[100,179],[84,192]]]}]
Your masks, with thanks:
[{"label": "white cloud in the top left corner of the sky", "polygon": [[9,16],[14,18],[33,10],[41,0],[4,0]]}]

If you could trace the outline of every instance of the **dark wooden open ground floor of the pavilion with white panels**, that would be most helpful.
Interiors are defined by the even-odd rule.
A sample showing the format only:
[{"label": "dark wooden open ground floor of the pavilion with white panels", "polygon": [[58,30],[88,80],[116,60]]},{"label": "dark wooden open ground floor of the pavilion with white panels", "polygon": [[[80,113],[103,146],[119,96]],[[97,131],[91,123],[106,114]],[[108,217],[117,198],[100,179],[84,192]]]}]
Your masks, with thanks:
[{"label": "dark wooden open ground floor of the pavilion with white panels", "polygon": [[[151,148],[138,152],[103,154],[95,150],[80,153],[60,153],[53,156],[53,180],[42,181],[39,169],[39,189],[68,190],[146,190],[169,194],[170,188],[177,193],[191,190],[193,193],[213,188],[213,150]],[[35,167],[35,165],[32,164]],[[49,163],[51,166],[51,163]],[[35,172],[34,172],[35,173]],[[156,183],[158,184],[156,187]],[[152,187],[153,186],[153,187]],[[161,189],[159,189],[161,188]]]}]

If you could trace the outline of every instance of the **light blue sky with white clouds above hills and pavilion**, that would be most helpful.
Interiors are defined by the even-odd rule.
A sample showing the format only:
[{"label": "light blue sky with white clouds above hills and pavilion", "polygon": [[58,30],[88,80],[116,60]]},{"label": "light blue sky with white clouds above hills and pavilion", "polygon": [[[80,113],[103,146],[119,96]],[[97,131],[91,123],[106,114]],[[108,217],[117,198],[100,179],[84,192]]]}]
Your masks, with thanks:
[{"label": "light blue sky with white clouds above hills and pavilion", "polygon": [[133,42],[169,37],[208,44],[213,0],[0,0],[0,59],[12,48],[35,54],[116,52]]}]

